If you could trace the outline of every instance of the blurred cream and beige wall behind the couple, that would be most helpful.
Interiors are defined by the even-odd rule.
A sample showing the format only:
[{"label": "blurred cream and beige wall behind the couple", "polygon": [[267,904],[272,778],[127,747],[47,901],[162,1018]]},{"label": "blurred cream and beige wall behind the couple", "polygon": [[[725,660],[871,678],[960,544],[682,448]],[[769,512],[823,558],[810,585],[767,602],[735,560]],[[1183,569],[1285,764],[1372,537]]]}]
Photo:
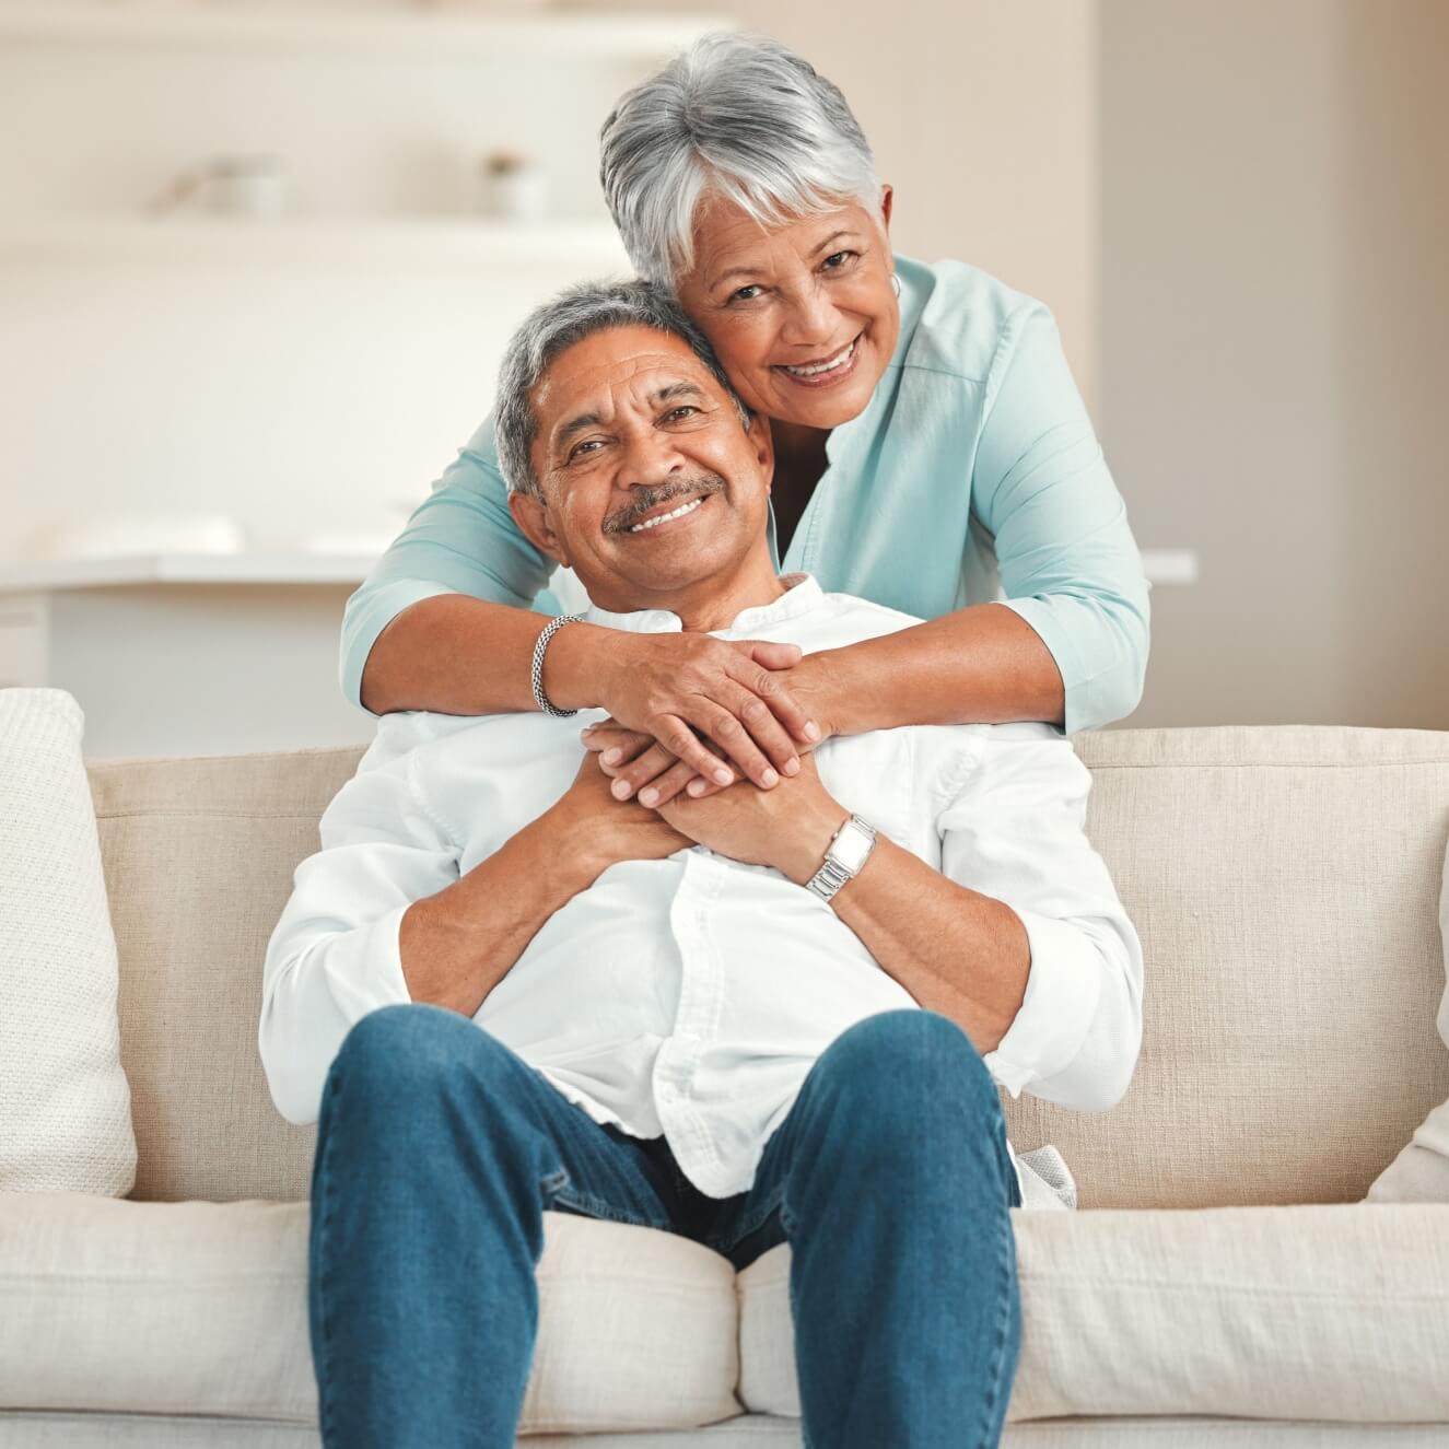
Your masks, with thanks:
[{"label": "blurred cream and beige wall behind the couple", "polygon": [[[341,601],[481,422],[522,313],[623,268],[598,123],[716,23],[845,90],[900,251],[1053,309],[1172,564],[1124,723],[1449,727],[1439,0],[156,13],[0,0],[0,682],[85,678],[94,753],[369,736],[326,653]],[[540,219],[483,216],[498,151],[546,177]],[[143,219],[223,152],[285,156],[283,220]],[[83,558],[141,514],[190,520],[190,572]],[[235,555],[199,564],[223,522]],[[185,627],[235,698],[178,664]],[[203,730],[199,693],[246,722]]]}]

